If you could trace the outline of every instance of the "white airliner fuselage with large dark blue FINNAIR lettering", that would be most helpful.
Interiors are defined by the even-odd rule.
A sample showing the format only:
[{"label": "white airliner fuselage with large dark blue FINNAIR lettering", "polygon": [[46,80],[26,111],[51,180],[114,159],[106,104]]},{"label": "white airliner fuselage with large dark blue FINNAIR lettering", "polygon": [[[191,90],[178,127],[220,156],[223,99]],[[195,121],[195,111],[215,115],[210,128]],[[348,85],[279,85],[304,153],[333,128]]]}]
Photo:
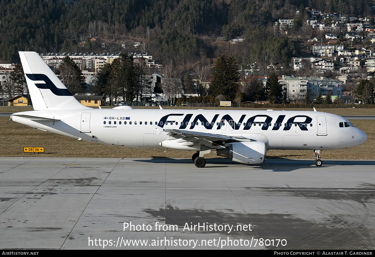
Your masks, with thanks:
[{"label": "white airliner fuselage with large dark blue FINNAIR lettering", "polygon": [[[59,121],[36,122],[17,115]],[[345,118],[308,111],[47,109],[17,113],[11,119],[77,139],[136,148],[165,147],[160,146],[168,138],[165,129],[241,136],[265,142],[267,149],[339,149],[367,139],[356,127],[340,126],[349,123]]]}]

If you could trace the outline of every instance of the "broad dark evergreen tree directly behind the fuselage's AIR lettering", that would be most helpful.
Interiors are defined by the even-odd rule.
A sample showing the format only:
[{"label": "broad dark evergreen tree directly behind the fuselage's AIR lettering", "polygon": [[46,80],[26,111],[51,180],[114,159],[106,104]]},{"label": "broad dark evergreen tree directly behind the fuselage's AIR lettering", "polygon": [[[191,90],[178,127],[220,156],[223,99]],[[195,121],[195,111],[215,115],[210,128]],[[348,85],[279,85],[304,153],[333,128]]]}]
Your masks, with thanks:
[{"label": "broad dark evergreen tree directly behind the fuselage's AIR lettering", "polygon": [[220,54],[212,67],[211,95],[220,94],[233,101],[238,91],[240,82],[239,66],[233,56]]}]

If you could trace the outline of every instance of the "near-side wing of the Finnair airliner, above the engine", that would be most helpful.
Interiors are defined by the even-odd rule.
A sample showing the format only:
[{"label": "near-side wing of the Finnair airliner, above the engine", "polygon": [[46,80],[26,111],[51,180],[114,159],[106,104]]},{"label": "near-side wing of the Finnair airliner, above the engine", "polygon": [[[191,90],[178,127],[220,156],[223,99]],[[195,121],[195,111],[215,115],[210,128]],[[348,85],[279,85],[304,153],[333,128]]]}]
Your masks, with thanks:
[{"label": "near-side wing of the Finnair airliner, above the engine", "polygon": [[212,133],[204,133],[204,132],[195,132],[195,131],[188,131],[188,130],[176,130],[176,129],[165,129],[164,131],[169,132],[168,136],[169,139],[181,139],[179,142],[184,142],[184,145],[191,146],[198,143],[202,145],[207,145],[208,142],[212,143],[213,141],[222,140],[222,141],[230,141],[230,142],[250,142],[255,141],[253,139],[248,139],[243,136],[228,136],[228,135],[220,135],[220,134],[212,134]]}]

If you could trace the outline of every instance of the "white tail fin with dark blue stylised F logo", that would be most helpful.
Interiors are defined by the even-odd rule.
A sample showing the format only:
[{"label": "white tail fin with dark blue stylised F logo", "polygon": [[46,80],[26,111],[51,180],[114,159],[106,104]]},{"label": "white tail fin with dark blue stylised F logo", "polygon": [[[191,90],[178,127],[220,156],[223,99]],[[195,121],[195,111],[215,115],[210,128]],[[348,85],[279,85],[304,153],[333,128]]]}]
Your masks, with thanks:
[{"label": "white tail fin with dark blue stylised F logo", "polygon": [[36,52],[19,52],[34,110],[86,109]]}]

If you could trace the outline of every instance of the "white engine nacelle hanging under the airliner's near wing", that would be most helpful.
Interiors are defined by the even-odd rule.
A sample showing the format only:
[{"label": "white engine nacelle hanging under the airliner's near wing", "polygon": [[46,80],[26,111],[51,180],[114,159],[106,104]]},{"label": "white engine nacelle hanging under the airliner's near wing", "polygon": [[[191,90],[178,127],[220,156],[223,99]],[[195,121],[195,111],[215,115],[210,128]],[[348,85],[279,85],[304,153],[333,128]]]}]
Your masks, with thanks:
[{"label": "white engine nacelle hanging under the airliner's near wing", "polygon": [[246,164],[264,163],[267,145],[265,142],[230,143],[229,148],[217,149],[216,155],[231,158],[233,161]]}]

